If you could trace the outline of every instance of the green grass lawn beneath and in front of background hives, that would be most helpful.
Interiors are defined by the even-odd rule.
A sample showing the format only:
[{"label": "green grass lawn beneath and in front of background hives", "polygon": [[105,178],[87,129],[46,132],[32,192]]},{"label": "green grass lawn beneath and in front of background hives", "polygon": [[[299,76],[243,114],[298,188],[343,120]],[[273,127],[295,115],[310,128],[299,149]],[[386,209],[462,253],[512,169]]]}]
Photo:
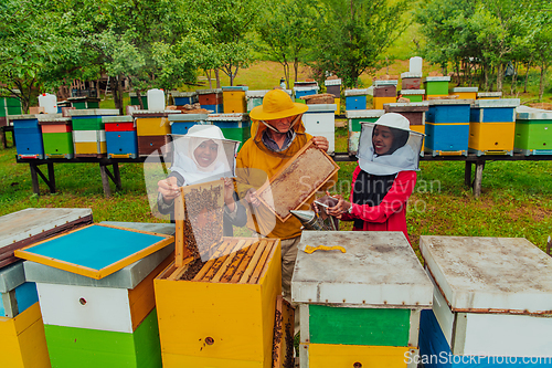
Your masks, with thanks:
[{"label": "green grass lawn beneath and in front of background hives", "polygon": [[[336,138],[337,151],[344,151],[347,128],[338,128]],[[85,207],[93,210],[95,222],[166,221],[150,212],[141,164],[119,165],[123,190],[108,199],[98,165],[55,164],[57,192],[50,193],[41,183],[36,196],[29,166],[15,164],[14,157],[15,148],[0,149],[0,215],[30,207]],[[339,182],[332,192],[349,196],[355,165],[339,164]],[[416,250],[420,235],[429,234],[527,238],[544,250],[552,234],[551,214],[551,161],[488,161],[479,199],[464,186],[464,162],[423,161],[406,220]],[[351,223],[342,223],[342,230],[350,228]]]}]

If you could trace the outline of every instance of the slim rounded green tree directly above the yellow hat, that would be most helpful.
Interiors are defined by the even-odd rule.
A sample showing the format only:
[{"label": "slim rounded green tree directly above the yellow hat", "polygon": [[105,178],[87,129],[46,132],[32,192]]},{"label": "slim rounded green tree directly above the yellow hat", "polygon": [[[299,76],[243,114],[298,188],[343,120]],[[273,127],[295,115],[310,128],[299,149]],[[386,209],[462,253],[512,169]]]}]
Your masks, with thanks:
[{"label": "slim rounded green tree directly above the yellow hat", "polygon": [[293,64],[295,81],[299,71],[299,61],[302,60],[316,35],[316,10],[307,1],[287,0],[275,1],[265,7],[257,24],[261,38],[259,49],[276,60],[284,67],[284,76],[289,88]]}]

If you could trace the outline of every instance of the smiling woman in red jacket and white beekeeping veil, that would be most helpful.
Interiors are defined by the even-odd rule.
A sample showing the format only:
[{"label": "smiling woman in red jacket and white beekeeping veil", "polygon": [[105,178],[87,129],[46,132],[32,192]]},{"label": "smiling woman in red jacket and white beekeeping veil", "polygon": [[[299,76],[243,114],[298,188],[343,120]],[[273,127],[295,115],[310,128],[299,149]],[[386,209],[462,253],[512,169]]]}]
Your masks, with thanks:
[{"label": "smiling woman in red jacket and white beekeeping veil", "polygon": [[359,165],[352,175],[350,202],[341,196],[328,213],[354,221],[357,231],[406,230],[406,202],[416,185],[423,135],[400,114],[362,123]]}]

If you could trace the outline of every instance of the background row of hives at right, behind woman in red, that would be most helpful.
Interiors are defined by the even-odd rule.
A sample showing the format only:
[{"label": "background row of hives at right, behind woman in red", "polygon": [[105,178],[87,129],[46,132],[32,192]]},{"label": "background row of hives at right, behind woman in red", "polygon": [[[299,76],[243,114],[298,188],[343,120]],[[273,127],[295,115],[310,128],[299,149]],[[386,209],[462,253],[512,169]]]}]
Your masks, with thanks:
[{"label": "background row of hives at right, behind woman in red", "polygon": [[551,155],[552,112],[519,106],[518,98],[432,99],[347,112],[349,154],[355,155],[362,122],[399,113],[424,133],[422,155]]}]

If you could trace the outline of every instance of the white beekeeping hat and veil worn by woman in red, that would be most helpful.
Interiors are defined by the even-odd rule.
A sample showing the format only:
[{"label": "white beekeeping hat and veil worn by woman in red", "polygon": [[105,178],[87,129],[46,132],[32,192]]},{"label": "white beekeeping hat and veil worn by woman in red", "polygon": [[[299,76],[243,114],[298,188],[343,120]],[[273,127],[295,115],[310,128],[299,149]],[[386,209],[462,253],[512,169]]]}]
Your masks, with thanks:
[{"label": "white beekeeping hat and veil worn by woman in red", "polygon": [[[373,144],[376,126],[391,128],[393,141],[384,154],[378,155]],[[399,171],[420,170],[420,150],[424,135],[410,129],[406,117],[396,113],[382,115],[375,123],[362,123],[359,140],[360,168],[371,175],[394,175]]]}]

